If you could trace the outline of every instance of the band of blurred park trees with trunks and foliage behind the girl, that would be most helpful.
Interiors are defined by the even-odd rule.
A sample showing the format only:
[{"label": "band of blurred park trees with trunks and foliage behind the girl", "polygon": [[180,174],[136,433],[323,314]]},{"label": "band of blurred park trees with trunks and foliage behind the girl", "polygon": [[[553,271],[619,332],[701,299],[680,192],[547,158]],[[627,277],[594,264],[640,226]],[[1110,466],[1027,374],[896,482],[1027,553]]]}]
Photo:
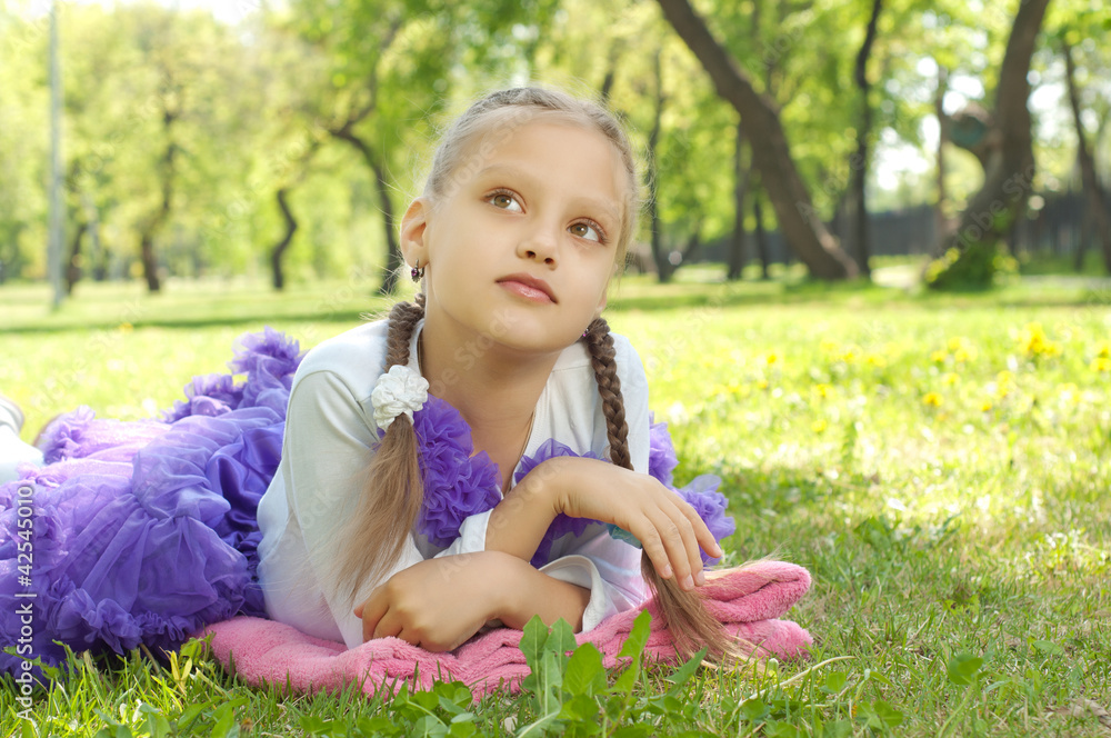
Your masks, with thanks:
[{"label": "band of blurred park trees with trunks and foliage behind the girl", "polygon": [[[0,283],[46,278],[43,4],[0,0]],[[530,80],[629,124],[648,196],[632,267],[661,280],[699,260],[730,279],[791,261],[821,279],[877,259],[951,267],[972,241],[991,268],[935,266],[935,283],[985,286],[1015,259],[1111,270],[1111,9],[1035,4],[1012,72],[1028,89],[1004,94],[1032,12],[1018,0],[59,2],[67,283],[391,291],[437,130]],[[712,42],[712,73],[677,9]],[[741,106],[722,93],[738,79]],[[1007,126],[1028,130],[1030,158],[993,163]],[[962,240],[970,226],[984,237]]]}]

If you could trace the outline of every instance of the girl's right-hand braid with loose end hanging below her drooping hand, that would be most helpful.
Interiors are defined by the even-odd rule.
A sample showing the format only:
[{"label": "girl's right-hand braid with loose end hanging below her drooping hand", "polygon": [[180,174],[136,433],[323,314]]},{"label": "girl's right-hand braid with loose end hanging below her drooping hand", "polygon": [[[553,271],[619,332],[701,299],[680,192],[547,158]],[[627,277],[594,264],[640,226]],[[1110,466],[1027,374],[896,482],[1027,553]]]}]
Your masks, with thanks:
[{"label": "girl's right-hand braid with loose end hanging below her drooping hand", "polygon": [[[584,339],[594,369],[594,380],[598,382],[598,393],[602,398],[610,460],[615,466],[632,469],[629,425],[625,422],[621,380],[618,378],[609,325],[604,319],[595,318],[587,328]],[[752,644],[725,634],[718,619],[707,609],[701,594],[680,589],[673,577],[660,577],[647,552],[641,557],[640,569],[655,598],[663,626],[671,630],[675,646],[684,656],[693,655],[703,645],[709,647],[709,652],[714,658],[747,660],[755,652]]]}]

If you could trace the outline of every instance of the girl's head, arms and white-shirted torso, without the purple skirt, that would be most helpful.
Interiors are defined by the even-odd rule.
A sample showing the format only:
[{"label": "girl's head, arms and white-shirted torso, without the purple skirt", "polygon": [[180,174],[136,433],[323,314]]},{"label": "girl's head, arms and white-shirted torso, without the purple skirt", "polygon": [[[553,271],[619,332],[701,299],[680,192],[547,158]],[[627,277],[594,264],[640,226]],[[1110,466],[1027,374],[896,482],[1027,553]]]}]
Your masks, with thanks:
[{"label": "girl's head, arms and white-shirted torso, without the purple skirt", "polygon": [[324,341],[294,378],[259,506],[272,618],[438,651],[534,615],[590,629],[647,578],[681,641],[728,650],[694,594],[701,552],[721,550],[647,473],[644,372],[599,317],[637,191],[628,140],[590,102],[500,91],[447,132],[401,225],[416,305]]}]

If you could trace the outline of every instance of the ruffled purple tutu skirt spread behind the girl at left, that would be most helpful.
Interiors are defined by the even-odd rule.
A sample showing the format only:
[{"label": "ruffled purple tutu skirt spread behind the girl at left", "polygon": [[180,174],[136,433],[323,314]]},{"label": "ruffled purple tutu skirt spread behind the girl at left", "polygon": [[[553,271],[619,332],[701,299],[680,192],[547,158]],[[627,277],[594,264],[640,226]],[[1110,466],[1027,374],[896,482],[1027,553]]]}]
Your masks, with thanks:
[{"label": "ruffled purple tutu skirt spread behind the girl at left", "polygon": [[59,642],[157,654],[210,622],[266,615],[257,508],[301,356],[269,328],[240,345],[231,373],[194,378],[162,419],[57,418],[46,466],[0,486],[0,671],[58,665]]}]

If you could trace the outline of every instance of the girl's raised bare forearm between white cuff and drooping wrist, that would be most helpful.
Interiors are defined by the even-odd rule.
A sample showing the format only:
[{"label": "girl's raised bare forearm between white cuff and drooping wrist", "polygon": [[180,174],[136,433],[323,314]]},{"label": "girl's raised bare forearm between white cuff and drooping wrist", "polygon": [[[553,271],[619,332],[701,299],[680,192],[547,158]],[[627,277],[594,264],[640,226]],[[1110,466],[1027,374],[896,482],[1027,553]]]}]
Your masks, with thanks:
[{"label": "girl's raised bare forearm between white cuff and drooping wrist", "polygon": [[490,513],[486,548],[526,561],[537,552],[557,513],[557,488],[568,482],[573,465],[556,458],[540,463]]}]

